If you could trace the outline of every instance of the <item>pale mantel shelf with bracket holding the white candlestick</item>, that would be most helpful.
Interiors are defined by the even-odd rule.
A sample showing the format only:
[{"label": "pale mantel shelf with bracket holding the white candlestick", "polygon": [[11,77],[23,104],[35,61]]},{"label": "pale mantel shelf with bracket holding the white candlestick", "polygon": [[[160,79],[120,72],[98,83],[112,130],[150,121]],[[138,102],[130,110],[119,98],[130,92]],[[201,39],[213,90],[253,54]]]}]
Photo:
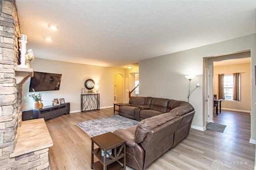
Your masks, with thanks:
[{"label": "pale mantel shelf with bracket holding the white candlestick", "polygon": [[28,79],[28,77],[34,76],[34,71],[30,68],[15,67],[15,75],[16,83],[23,84]]}]

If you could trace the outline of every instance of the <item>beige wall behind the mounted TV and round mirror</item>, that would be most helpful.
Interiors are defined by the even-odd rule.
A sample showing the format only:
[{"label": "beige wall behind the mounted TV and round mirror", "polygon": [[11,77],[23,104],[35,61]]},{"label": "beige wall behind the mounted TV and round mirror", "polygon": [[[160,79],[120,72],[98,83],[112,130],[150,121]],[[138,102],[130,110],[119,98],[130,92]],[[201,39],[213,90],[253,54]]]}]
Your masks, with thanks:
[{"label": "beige wall behind the mounted TV and round mirror", "polygon": [[[60,90],[43,92],[43,103],[44,105],[51,105],[53,98],[64,98],[65,102],[70,102],[70,111],[73,112],[80,111],[80,94],[86,79],[93,79],[95,84],[99,84],[100,107],[112,107],[114,101],[114,76],[118,73],[125,74],[125,69],[40,58],[36,58],[30,65],[34,71],[62,74]],[[32,108],[32,99],[26,96],[29,82],[30,79],[23,85],[23,110]]]}]

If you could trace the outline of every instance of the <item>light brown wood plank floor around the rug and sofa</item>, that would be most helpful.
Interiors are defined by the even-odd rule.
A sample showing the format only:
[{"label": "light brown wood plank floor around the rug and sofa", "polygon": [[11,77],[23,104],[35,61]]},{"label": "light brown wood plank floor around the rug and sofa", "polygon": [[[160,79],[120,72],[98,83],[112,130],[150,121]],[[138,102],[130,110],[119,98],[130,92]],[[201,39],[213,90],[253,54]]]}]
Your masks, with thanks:
[{"label": "light brown wood plank floor around the rug and sofa", "polygon": [[[113,115],[113,108],[70,113],[46,121],[54,142],[49,148],[50,170],[90,170],[90,136],[75,123]],[[215,123],[223,133],[192,129],[187,138],[153,162],[147,170],[253,169],[255,145],[250,144],[250,114],[224,111]],[[127,170],[132,168],[127,167]]]}]

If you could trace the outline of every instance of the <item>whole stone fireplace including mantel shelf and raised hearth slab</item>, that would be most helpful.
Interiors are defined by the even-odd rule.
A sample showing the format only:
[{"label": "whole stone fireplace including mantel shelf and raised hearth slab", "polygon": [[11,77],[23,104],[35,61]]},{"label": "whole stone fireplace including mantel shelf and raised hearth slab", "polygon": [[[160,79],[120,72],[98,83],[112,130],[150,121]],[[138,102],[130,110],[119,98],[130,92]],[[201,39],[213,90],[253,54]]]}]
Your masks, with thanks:
[{"label": "whole stone fireplace including mantel shelf and raised hearth slab", "polygon": [[[33,147],[33,144],[29,143],[38,144],[38,142],[31,139],[26,140],[26,138],[38,138],[37,133],[40,133],[40,130],[48,132],[44,121],[38,119],[22,123],[22,83],[28,77],[33,76],[33,69],[17,67],[19,64],[19,37],[20,26],[15,0],[1,0],[0,169],[47,170],[49,169],[48,147],[53,145],[49,138],[50,134],[44,136],[50,142],[48,140],[41,143],[40,147]],[[34,129],[34,133],[30,129]],[[22,135],[19,136],[19,134]],[[24,146],[24,144],[27,145]]]}]

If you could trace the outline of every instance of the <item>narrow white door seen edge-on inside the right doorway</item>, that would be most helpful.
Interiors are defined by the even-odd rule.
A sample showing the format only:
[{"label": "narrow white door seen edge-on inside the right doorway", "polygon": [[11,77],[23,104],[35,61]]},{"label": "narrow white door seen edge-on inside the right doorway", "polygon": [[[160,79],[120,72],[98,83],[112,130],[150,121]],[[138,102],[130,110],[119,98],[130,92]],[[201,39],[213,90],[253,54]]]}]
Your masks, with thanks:
[{"label": "narrow white door seen edge-on inside the right doorway", "polygon": [[209,69],[205,68],[205,97],[204,97],[204,105],[205,105],[205,125],[209,123]]}]

